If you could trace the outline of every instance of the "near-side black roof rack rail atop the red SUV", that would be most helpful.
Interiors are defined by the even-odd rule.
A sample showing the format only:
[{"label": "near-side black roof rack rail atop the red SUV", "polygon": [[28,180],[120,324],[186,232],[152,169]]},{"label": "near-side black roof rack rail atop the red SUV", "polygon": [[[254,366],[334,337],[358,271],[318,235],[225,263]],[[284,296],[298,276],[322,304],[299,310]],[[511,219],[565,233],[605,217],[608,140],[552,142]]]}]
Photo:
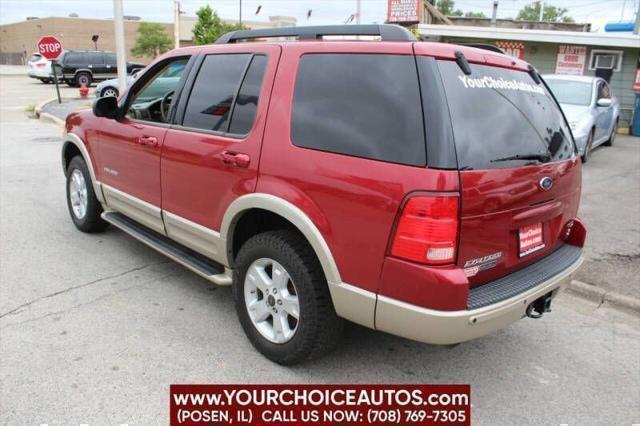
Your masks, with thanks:
[{"label": "near-side black roof rack rail atop the red SUV", "polygon": [[416,41],[409,30],[399,25],[321,25],[311,27],[280,27],[260,30],[232,31],[223,34],[216,44],[269,37],[297,37],[300,40],[321,40],[322,36],[380,36],[382,41]]}]

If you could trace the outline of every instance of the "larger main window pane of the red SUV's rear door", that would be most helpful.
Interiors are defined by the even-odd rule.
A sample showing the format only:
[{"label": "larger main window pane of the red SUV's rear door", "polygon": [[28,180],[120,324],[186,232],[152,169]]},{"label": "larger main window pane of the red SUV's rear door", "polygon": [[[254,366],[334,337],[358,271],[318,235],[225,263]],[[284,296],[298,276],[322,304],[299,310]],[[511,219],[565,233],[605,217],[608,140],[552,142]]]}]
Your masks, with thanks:
[{"label": "larger main window pane of the red SUV's rear door", "polygon": [[226,132],[233,100],[251,54],[208,55],[196,77],[182,125]]}]

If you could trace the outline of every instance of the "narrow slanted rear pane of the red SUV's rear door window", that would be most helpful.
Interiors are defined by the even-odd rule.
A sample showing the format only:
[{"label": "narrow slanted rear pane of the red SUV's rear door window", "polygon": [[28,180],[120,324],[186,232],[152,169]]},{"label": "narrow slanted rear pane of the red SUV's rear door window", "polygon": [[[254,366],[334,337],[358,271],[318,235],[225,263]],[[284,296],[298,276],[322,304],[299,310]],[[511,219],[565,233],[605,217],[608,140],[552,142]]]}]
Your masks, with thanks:
[{"label": "narrow slanted rear pane of the red SUV's rear door window", "polygon": [[233,107],[229,133],[244,135],[249,133],[253,120],[256,118],[258,109],[258,97],[262,88],[264,70],[267,66],[267,57],[256,55],[251,60],[247,74],[240,86],[240,91],[236,97],[236,104]]}]

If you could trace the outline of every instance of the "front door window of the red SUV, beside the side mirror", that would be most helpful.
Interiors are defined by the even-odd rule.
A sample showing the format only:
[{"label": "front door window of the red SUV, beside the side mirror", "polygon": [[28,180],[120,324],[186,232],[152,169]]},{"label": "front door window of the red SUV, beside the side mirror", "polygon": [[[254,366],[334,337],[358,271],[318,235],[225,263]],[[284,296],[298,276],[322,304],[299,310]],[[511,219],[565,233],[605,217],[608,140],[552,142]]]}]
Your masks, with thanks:
[{"label": "front door window of the red SUV, beside the side mirror", "polygon": [[[129,119],[166,123],[173,92],[178,87],[180,77],[189,62],[189,58],[179,58],[161,67],[146,80],[142,88],[135,89],[133,99],[129,100],[126,117]],[[169,72],[169,70],[175,72]],[[146,75],[145,75],[146,77]]]}]

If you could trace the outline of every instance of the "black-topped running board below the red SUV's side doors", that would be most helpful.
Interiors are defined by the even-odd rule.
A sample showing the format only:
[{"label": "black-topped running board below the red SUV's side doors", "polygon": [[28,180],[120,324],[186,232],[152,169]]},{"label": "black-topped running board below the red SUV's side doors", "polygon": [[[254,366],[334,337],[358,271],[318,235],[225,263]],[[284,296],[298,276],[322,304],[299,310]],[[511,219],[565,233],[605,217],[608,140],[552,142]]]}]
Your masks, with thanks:
[{"label": "black-topped running board below the red SUV's side doors", "polygon": [[122,213],[104,212],[102,219],[212,283],[220,286],[231,285],[231,275],[224,266],[129,219]]}]

